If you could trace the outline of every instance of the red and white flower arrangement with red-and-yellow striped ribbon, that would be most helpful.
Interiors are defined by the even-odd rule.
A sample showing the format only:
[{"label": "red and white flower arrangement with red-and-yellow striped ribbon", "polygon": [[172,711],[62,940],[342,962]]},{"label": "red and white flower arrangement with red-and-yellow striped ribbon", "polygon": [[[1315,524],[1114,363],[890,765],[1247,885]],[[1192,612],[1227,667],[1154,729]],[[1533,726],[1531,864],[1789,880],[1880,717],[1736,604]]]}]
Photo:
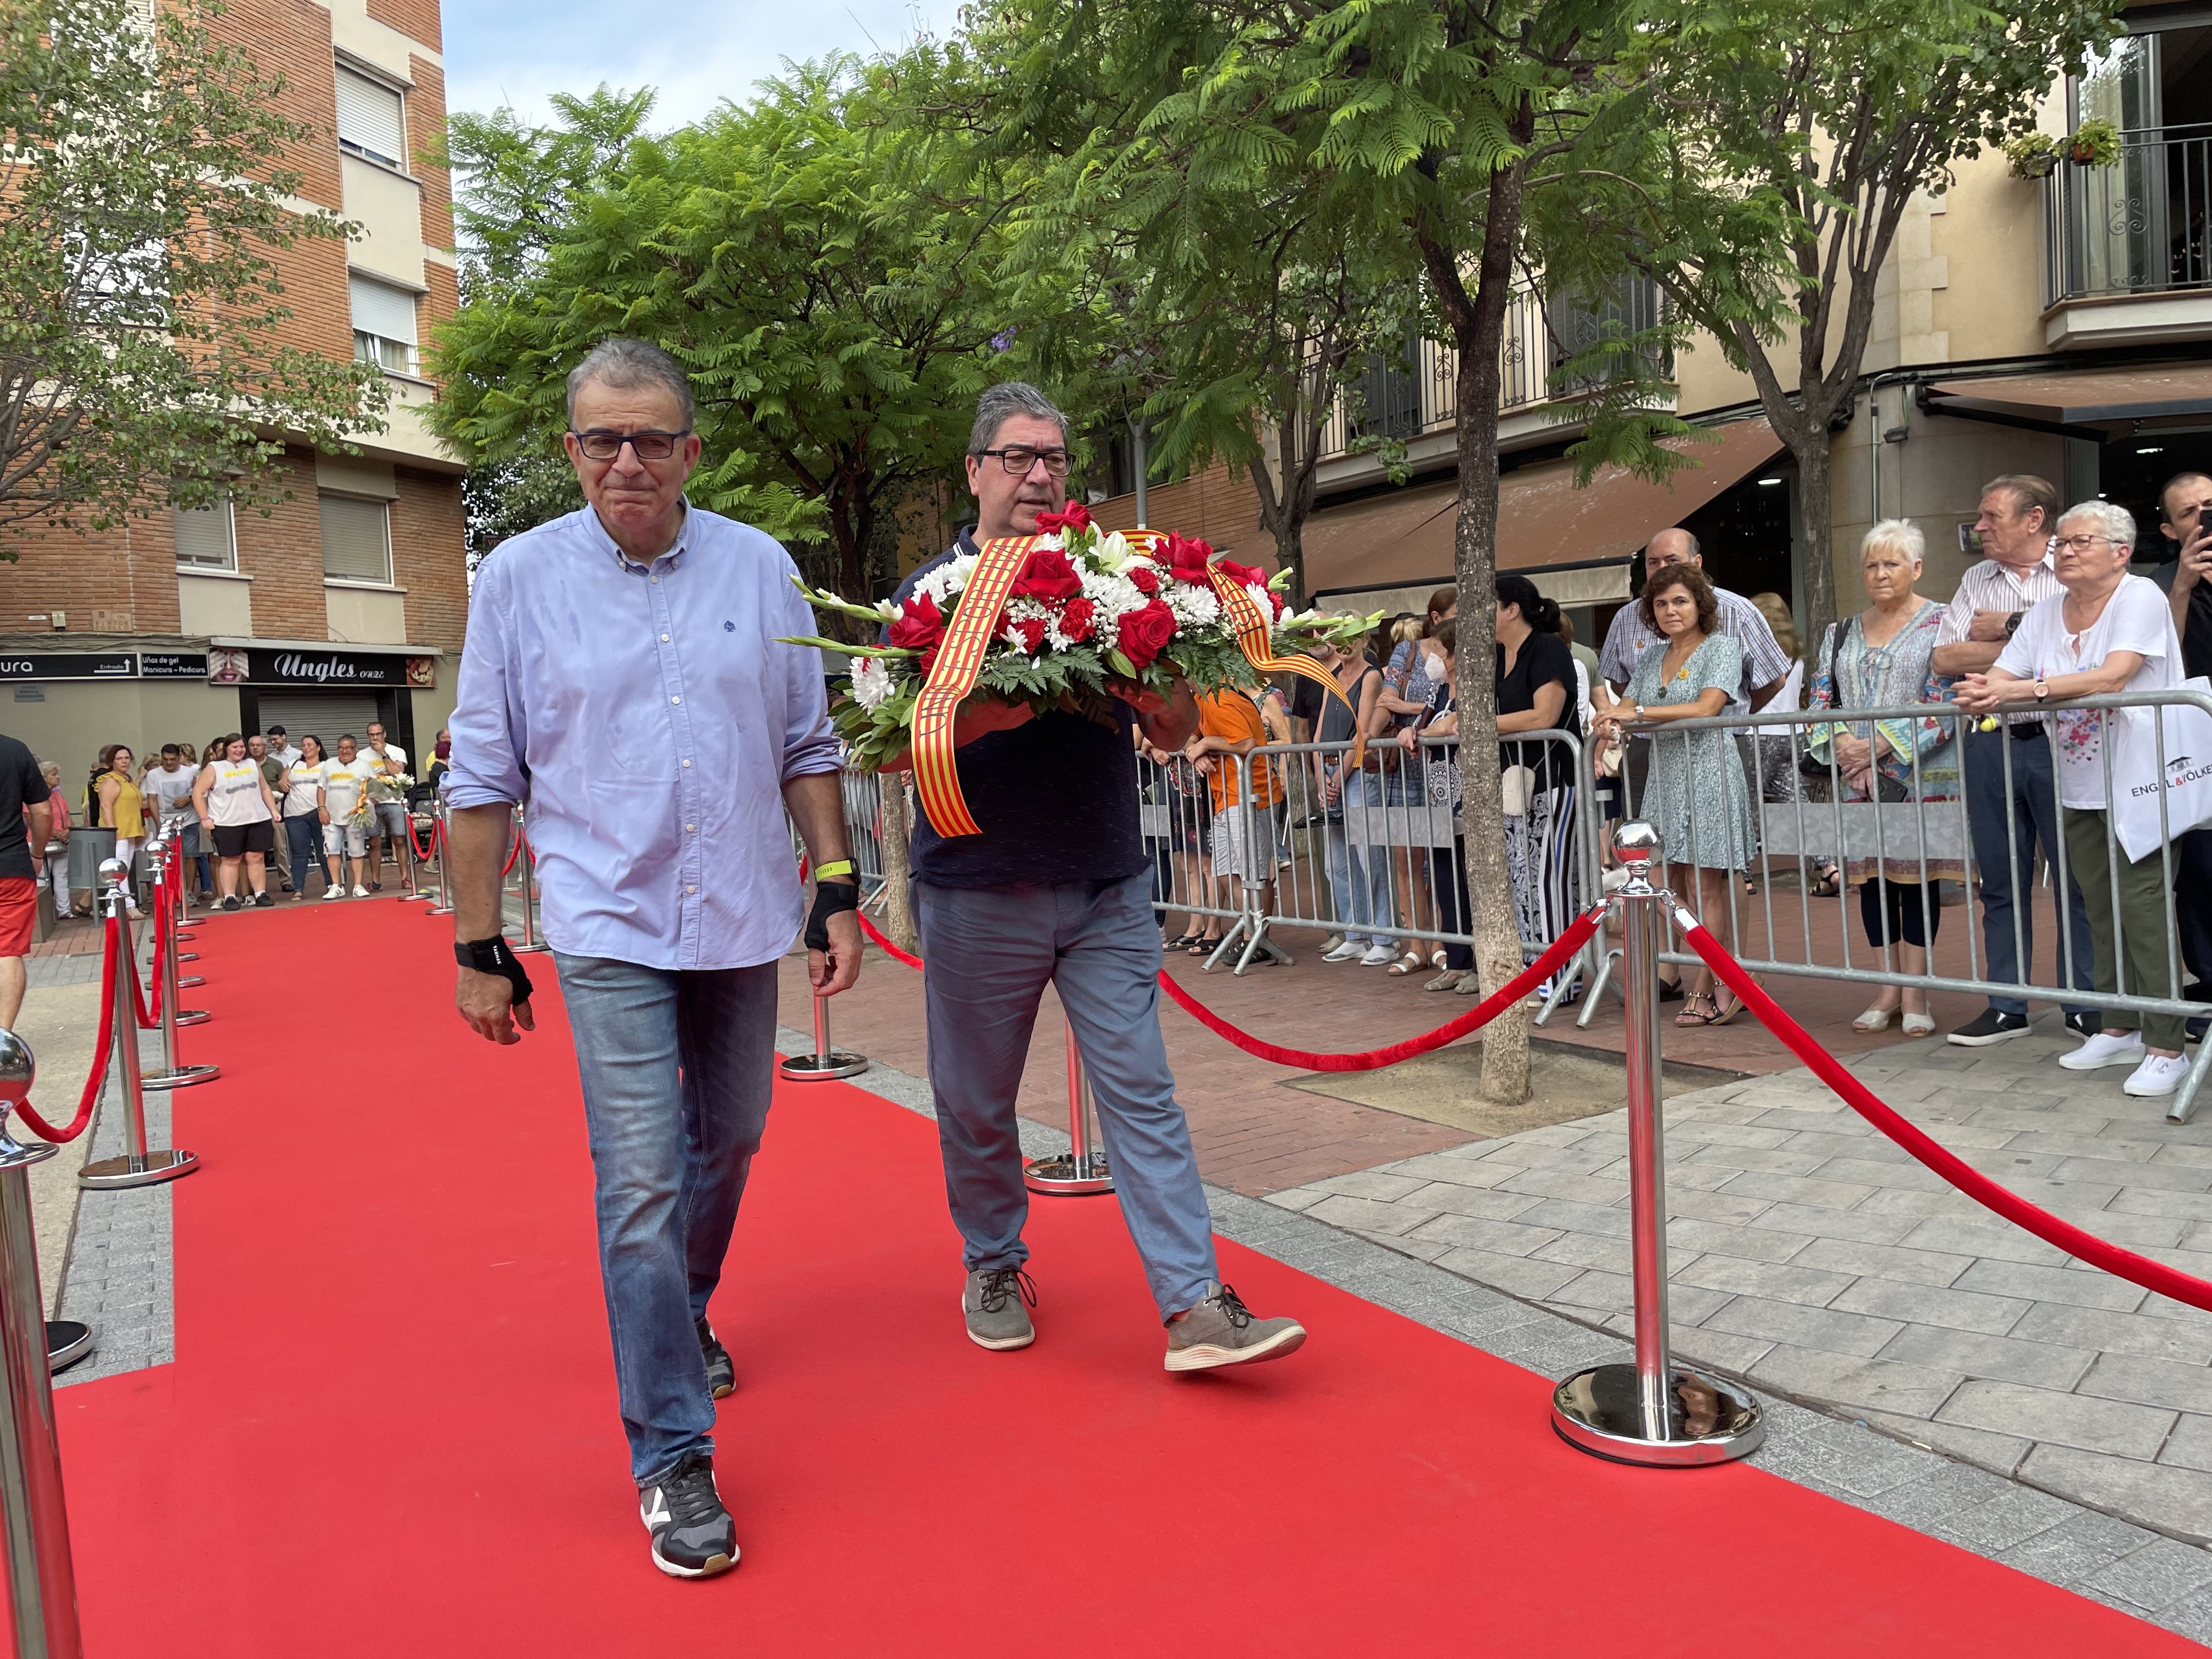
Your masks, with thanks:
[{"label": "red and white flower arrangement with red-and-yellow striped ribbon", "polygon": [[1115,688],[1168,692],[1177,677],[1201,697],[1223,686],[1256,690],[1270,672],[1332,684],[1303,648],[1374,626],[1374,617],[1285,613],[1261,571],[1214,560],[1199,540],[1102,531],[1077,502],[1042,513],[1037,535],[993,540],[931,571],[905,604],[799,591],[816,611],[885,630],[880,646],[787,641],[858,659],[832,719],[867,772],[925,745],[925,701],[982,692],[1110,721]]}]

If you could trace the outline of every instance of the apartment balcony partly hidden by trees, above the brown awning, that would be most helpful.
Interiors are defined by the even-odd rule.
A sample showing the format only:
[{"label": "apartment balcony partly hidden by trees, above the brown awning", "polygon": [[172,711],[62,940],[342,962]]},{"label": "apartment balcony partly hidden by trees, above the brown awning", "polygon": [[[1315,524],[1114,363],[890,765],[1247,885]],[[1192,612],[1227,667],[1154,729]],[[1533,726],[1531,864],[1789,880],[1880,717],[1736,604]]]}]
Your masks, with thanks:
[{"label": "apartment balcony partly hidden by trees, above the brown awning", "polygon": [[[1588,380],[1562,380],[1559,367],[1606,334],[1639,334],[1659,323],[1659,290],[1624,281],[1597,305],[1520,288],[1506,305],[1500,347],[1500,445],[1506,449],[1557,436],[1573,420],[1573,400]],[[1374,356],[1321,438],[1321,484],[1347,484],[1380,473],[1376,438],[1398,440],[1418,469],[1453,449],[1460,354],[1429,338],[1407,341],[1405,356]]]}]

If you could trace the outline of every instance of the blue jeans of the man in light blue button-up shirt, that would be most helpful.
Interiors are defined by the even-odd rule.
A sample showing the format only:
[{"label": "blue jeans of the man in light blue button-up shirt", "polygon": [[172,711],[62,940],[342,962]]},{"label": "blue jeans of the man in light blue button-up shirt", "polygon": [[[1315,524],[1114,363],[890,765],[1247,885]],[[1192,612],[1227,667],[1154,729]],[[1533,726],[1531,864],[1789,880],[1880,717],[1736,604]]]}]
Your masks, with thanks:
[{"label": "blue jeans of the man in light blue button-up shirt", "polygon": [[721,1283],[776,1060],[776,964],[677,973],[553,953],[584,1079],[599,1281],[639,1484],[714,1449],[695,1323]]}]

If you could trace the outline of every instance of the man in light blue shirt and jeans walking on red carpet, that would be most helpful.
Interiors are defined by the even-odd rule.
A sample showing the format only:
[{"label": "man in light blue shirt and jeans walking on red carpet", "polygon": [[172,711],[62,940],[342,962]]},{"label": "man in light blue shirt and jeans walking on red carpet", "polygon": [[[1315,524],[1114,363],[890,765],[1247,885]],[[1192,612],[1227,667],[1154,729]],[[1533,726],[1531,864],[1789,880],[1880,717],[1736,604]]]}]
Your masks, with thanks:
[{"label": "man in light blue shirt and jeans walking on red carpet", "polygon": [[533,1029],[500,938],[509,810],[526,803],[597,1177],[599,1274],[653,1562],[737,1564],[714,1491],[714,1400],[737,1385],[708,1298],[768,1121],[776,960],[801,927],[785,810],[821,876],[816,995],[860,971],[838,750],[814,619],[768,535],[684,500],[690,387],[639,341],[568,376],[588,507],[476,575],[453,708],[456,1004]]}]

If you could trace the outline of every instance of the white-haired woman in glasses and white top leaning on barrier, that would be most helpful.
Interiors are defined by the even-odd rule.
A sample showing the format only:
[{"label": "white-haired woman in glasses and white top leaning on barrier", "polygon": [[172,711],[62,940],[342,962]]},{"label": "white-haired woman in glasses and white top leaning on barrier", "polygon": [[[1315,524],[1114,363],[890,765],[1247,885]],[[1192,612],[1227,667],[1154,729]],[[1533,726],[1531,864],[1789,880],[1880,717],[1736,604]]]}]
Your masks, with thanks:
[{"label": "white-haired woman in glasses and white top leaning on barrier", "polygon": [[[2183,668],[2174,613],[2154,582],[2128,575],[2135,515],[2112,502],[2081,502],[2059,518],[2053,553],[2053,573],[2066,593],[2020,619],[1986,675],[1960,675],[1960,708],[1975,714],[2006,706],[2033,710],[2062,697],[2179,686]],[[2172,973],[2166,960],[2163,858],[2152,849],[2128,863],[2117,843],[2108,856],[2106,714],[2059,708],[2051,712],[2051,726],[2066,863],[2088,909],[2097,989],[2108,995],[2119,991],[2119,956],[2126,951],[2128,984],[2163,991]],[[2070,1055],[2059,1055],[2059,1064],[2068,1071],[2132,1066],[2126,1093],[2152,1099],[2174,1093],[2188,1075],[2181,1042],[2181,1015],[2137,1018],[2108,1009],[2104,1029]]]}]

